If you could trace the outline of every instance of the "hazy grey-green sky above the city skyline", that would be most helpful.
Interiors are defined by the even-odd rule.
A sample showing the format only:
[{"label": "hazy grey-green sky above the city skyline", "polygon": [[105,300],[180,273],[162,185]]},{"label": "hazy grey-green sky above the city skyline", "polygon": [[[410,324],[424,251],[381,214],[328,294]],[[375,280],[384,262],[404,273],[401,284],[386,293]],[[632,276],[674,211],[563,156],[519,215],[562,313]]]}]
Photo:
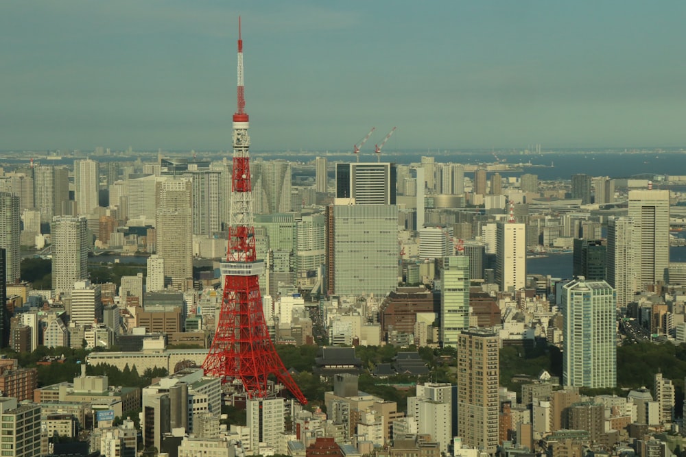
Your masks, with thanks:
[{"label": "hazy grey-green sky above the city skyline", "polygon": [[0,150],[686,145],[686,2],[3,0]]}]

